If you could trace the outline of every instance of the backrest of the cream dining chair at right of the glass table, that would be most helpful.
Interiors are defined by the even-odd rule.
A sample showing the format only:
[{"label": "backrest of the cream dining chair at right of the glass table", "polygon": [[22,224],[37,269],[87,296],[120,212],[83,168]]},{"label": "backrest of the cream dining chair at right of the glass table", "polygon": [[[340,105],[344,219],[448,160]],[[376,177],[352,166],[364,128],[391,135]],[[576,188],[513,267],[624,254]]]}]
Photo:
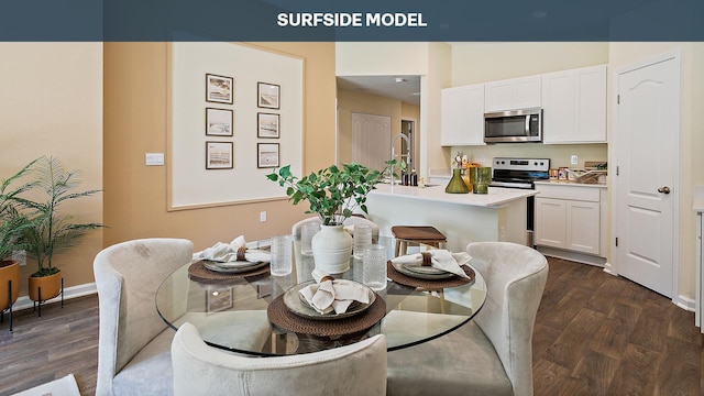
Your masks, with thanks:
[{"label": "backrest of the cream dining chair at right of the glass table", "polygon": [[487,296],[473,319],[494,344],[515,394],[532,394],[532,330],[548,261],[538,251],[510,242],[470,243],[466,252],[486,280]]}]

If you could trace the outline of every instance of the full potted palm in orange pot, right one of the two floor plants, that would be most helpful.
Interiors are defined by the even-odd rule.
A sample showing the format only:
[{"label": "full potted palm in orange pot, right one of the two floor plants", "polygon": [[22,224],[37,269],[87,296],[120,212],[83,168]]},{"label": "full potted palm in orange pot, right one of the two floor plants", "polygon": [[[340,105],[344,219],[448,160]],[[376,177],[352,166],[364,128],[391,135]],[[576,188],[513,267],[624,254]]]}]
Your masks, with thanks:
[{"label": "full potted palm in orange pot, right one of the two floor plants", "polygon": [[[19,198],[32,226],[24,229],[22,240],[30,257],[36,260],[37,270],[30,275],[29,295],[33,301],[45,301],[61,293],[61,270],[54,265],[54,254],[76,245],[90,230],[103,227],[98,222],[74,222],[72,215],[64,215],[62,204],[89,197],[99,189],[75,193],[80,184],[79,172],[67,170],[55,157],[42,156],[31,166],[35,177],[36,200]],[[41,293],[40,293],[41,290]]]}]

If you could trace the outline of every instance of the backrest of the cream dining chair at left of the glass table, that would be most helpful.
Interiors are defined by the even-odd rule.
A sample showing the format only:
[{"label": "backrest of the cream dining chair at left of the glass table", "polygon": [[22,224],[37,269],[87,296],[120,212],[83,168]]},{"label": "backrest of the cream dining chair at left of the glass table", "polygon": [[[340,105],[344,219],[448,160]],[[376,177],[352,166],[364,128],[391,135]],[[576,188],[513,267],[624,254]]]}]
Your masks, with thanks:
[{"label": "backrest of the cream dining chair at left of the glass table", "polygon": [[133,240],[96,255],[99,394],[112,394],[116,373],[166,329],[156,311],[156,290],[172,272],[191,260],[193,242],[184,239]]}]

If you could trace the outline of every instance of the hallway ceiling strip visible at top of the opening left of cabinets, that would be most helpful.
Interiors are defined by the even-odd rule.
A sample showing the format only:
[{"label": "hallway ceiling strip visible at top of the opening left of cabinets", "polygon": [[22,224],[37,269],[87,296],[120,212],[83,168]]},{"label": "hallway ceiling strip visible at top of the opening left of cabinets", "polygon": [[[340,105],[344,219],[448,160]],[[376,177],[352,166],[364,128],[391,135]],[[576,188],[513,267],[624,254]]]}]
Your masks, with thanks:
[{"label": "hallway ceiling strip visible at top of the opening left of cabinets", "polygon": [[338,76],[338,88],[420,106],[420,76]]}]

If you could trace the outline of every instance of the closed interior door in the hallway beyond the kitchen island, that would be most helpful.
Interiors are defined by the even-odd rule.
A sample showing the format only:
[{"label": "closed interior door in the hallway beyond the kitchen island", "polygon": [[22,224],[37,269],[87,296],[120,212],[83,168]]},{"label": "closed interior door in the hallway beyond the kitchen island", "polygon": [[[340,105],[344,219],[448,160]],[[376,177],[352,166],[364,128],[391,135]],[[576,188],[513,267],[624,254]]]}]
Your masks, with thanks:
[{"label": "closed interior door in the hallway beyond the kitchen island", "polygon": [[392,118],[352,113],[351,160],[372,169],[383,169],[392,156]]}]

